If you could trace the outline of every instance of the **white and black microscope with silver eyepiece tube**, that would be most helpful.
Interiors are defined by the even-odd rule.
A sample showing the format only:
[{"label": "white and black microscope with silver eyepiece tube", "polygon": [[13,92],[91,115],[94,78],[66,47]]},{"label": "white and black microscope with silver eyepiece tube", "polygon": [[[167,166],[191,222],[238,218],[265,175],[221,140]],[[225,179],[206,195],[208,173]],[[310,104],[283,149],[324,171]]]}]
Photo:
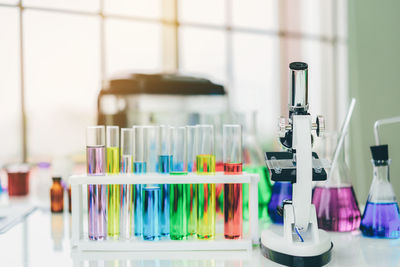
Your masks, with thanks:
[{"label": "white and black microscope with silver eyepiece tube", "polygon": [[265,159],[273,181],[289,181],[293,200],[285,200],[278,212],[283,228],[271,226],[261,234],[262,254],[287,266],[322,266],[331,259],[333,244],[318,229],[315,206],[311,203],[312,181],[326,180],[326,160],[312,152],[313,135],[325,130],[322,116],[315,123],[308,113],[308,65],[293,62],[290,68],[289,118],[279,122],[280,142],[285,152],[266,152]]}]

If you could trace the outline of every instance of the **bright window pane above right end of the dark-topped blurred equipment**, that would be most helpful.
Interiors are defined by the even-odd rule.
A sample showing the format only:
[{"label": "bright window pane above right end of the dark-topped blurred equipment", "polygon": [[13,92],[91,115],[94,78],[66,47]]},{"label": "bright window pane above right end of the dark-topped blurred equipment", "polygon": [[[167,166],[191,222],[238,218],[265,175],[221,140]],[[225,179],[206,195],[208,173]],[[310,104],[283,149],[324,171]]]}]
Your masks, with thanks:
[{"label": "bright window pane above right end of the dark-topped blurred equipment", "polygon": [[225,32],[182,27],[179,36],[180,70],[183,73],[226,82]]}]

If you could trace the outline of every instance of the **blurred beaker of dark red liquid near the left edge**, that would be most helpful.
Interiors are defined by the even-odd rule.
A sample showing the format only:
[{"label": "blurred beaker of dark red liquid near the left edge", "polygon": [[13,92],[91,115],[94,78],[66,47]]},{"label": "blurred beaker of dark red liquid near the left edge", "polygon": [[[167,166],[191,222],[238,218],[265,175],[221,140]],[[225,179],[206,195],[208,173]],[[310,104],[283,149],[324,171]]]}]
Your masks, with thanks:
[{"label": "blurred beaker of dark red liquid near the left edge", "polygon": [[28,164],[12,164],[5,169],[8,176],[8,195],[27,195],[29,193],[30,166]]}]

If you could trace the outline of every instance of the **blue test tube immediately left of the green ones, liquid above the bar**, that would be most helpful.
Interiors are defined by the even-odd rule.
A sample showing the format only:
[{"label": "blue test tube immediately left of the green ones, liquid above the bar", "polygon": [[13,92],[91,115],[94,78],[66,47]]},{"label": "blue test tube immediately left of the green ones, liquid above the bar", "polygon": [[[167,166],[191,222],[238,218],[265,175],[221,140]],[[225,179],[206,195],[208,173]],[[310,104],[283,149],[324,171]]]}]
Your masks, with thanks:
[{"label": "blue test tube immediately left of the green ones, liquid above the bar", "polygon": [[[171,127],[161,125],[159,127],[159,153],[158,153],[158,172],[168,174],[171,169]],[[169,184],[159,184],[160,187],[160,232],[161,236],[169,236]]]}]

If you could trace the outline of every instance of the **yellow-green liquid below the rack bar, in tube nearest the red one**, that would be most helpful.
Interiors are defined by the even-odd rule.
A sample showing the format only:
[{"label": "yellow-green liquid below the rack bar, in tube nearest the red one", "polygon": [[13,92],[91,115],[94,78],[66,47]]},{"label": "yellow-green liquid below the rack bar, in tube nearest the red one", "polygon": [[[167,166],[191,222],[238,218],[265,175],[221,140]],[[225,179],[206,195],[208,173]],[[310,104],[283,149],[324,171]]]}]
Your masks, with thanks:
[{"label": "yellow-green liquid below the rack bar, in tube nearest the red one", "polygon": [[197,237],[215,237],[215,184],[197,184]]}]

